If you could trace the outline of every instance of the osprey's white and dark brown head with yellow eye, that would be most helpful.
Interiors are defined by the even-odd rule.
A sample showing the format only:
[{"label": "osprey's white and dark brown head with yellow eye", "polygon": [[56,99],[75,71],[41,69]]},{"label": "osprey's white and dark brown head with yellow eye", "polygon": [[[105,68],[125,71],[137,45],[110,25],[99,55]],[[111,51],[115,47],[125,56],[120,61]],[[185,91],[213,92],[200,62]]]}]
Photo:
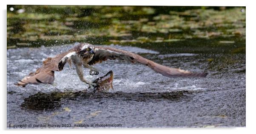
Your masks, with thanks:
[{"label": "osprey's white and dark brown head with yellow eye", "polygon": [[77,54],[81,59],[91,58],[94,56],[94,46],[88,43],[80,44]]}]

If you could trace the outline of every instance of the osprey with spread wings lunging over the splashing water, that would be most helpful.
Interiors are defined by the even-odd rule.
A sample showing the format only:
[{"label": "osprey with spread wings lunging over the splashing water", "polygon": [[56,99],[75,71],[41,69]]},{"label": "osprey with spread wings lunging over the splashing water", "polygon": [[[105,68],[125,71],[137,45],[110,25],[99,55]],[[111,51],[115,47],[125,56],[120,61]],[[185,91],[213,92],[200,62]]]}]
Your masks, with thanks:
[{"label": "osprey with spread wings lunging over the splashing water", "polygon": [[42,67],[38,68],[36,72],[30,73],[28,76],[21,79],[16,85],[25,87],[27,84],[53,84],[54,71],[61,71],[66,62],[69,64],[73,62],[80,80],[89,84],[90,87],[93,87],[96,86],[96,84],[83,77],[82,66],[90,69],[90,75],[98,75],[99,70],[91,65],[101,63],[108,59],[125,60],[131,63],[138,62],[167,77],[205,77],[208,74],[191,73],[178,68],[166,67],[149,59],[145,59],[138,54],[117,48],[97,47],[89,43],[81,43],[67,52],[58,54],[54,58],[47,58],[43,61]]}]

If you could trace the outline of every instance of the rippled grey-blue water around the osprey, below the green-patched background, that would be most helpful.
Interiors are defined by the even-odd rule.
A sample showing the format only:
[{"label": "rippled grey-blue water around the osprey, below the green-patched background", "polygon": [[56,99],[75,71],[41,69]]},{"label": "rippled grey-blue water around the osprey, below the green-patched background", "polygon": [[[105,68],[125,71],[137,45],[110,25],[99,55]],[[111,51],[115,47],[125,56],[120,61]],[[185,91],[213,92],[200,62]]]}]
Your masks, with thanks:
[{"label": "rippled grey-blue water around the osprey, below the green-patched background", "polygon": [[48,56],[52,57],[73,46],[7,50],[7,126],[245,126],[245,53],[191,53],[192,50],[166,53],[163,47],[150,50],[111,45],[168,67],[193,72],[207,71],[209,74],[206,78],[168,78],[141,64],[105,61],[95,65],[101,70],[99,75],[91,76],[89,70],[84,69],[85,78],[93,81],[112,70],[113,91],[97,94],[82,92],[88,85],[82,83],[74,67],[68,65],[63,71],[55,73],[53,85],[28,84],[25,88],[14,85],[40,67]]}]

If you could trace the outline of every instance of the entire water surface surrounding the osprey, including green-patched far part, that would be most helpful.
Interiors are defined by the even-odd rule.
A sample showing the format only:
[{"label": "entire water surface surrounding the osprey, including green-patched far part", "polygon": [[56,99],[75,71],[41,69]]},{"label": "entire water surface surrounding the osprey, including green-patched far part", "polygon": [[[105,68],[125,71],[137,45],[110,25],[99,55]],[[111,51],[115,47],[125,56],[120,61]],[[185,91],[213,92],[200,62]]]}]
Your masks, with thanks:
[{"label": "entire water surface surrounding the osprey, including green-patched far part", "polygon": [[[18,8],[26,10],[17,13]],[[8,11],[7,46],[14,49],[7,50],[7,126],[245,126],[245,8],[91,8],[17,6]],[[60,11],[67,13],[58,16]],[[127,12],[118,16],[121,11]],[[95,24],[100,22],[105,23]],[[209,74],[168,78],[140,64],[106,61],[95,65],[99,75],[88,75],[87,69],[84,73],[94,80],[112,70],[114,90],[109,92],[82,92],[88,86],[68,66],[55,73],[53,85],[14,85],[46,57],[77,44],[73,42],[110,45],[168,67]]]}]

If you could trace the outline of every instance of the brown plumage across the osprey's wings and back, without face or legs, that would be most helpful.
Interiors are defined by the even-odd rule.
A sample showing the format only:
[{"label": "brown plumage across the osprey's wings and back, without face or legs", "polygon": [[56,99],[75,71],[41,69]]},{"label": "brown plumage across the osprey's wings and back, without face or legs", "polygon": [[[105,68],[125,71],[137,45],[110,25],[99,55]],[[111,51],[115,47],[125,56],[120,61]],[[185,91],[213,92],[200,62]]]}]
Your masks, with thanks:
[{"label": "brown plumage across the osprey's wings and back, without face or legs", "polygon": [[[55,56],[54,58],[47,58],[45,61],[43,61],[43,66],[36,70],[35,73],[30,73],[28,76],[24,77],[22,80],[20,80],[16,85],[25,87],[26,84],[52,84],[54,81],[54,71],[61,71],[63,70],[63,67],[66,62],[63,62],[63,57],[67,56],[70,53],[74,53],[77,55],[77,57],[80,57],[80,61],[82,61],[83,64],[93,65],[97,63],[101,63],[102,61],[106,61],[108,59],[114,60],[125,60],[129,61],[131,63],[141,63],[148,67],[150,67],[152,70],[156,71],[157,73],[160,73],[162,75],[165,75],[167,77],[205,77],[208,73],[191,73],[189,71],[181,70],[178,68],[170,68],[163,66],[161,64],[155,63],[154,61],[148,60],[143,58],[142,56],[139,56],[138,54],[131,53],[125,50],[120,50],[117,48],[112,47],[93,47],[94,48],[94,56],[92,59],[88,58],[86,59],[86,55],[80,55],[81,53],[84,53],[84,49],[82,48],[86,46],[93,46],[88,43],[81,43],[80,45],[77,45],[67,52],[60,53],[59,55]],[[81,59],[83,58],[83,59]],[[68,59],[68,63],[71,60]],[[74,63],[77,64],[77,63]]]}]

